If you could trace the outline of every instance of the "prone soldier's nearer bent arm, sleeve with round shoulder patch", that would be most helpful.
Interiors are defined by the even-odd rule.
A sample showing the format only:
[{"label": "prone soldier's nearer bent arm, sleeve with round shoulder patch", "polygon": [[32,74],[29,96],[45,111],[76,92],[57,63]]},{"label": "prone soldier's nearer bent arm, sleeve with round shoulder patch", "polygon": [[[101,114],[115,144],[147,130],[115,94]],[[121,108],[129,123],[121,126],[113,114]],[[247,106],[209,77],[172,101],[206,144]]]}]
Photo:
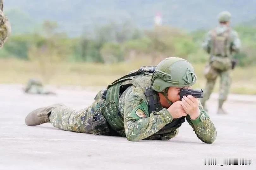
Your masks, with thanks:
[{"label": "prone soldier's nearer bent arm, sleeve with round shoulder patch", "polygon": [[173,118],[166,109],[149,113],[147,100],[141,89],[132,86],[127,90],[124,101],[124,125],[129,141],[145,139],[172,122]]}]

